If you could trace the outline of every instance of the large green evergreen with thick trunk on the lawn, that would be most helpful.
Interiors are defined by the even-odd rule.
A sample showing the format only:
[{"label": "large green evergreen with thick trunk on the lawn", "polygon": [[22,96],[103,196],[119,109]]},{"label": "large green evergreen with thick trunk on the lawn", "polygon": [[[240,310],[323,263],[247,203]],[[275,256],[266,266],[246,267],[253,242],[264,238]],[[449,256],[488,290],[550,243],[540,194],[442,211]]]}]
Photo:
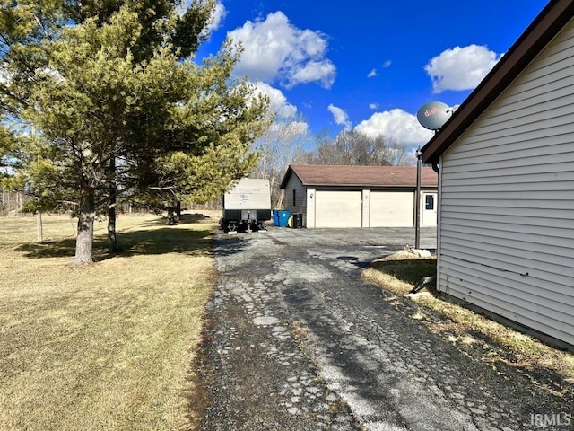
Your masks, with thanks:
[{"label": "large green evergreen with thick trunk on the lawn", "polygon": [[116,199],[213,198],[249,172],[267,101],[231,78],[226,43],[197,65],[213,1],[2,0],[2,104],[30,125],[20,183],[39,207],[75,204],[74,263],[92,260],[93,221]]}]

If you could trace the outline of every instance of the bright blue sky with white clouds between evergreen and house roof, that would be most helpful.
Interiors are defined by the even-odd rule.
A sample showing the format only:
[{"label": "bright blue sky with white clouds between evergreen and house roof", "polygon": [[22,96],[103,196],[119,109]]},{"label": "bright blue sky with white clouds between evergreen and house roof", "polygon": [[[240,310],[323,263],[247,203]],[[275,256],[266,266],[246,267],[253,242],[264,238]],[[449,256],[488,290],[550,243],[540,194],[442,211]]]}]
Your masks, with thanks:
[{"label": "bright blue sky with white clouds between evergreen and house roof", "polygon": [[462,103],[548,0],[219,0],[211,38],[245,51],[235,74],[309,133],[356,128],[424,145],[416,111]]}]

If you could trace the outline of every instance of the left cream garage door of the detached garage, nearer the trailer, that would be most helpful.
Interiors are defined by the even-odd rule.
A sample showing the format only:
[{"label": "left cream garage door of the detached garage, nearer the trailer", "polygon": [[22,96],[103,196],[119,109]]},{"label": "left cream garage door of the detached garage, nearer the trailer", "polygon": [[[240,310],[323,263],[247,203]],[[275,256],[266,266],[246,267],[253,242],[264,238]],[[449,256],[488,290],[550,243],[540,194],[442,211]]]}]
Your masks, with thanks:
[{"label": "left cream garage door of the detached garage, nearer the trailer", "polygon": [[361,191],[317,190],[315,227],[361,227]]}]

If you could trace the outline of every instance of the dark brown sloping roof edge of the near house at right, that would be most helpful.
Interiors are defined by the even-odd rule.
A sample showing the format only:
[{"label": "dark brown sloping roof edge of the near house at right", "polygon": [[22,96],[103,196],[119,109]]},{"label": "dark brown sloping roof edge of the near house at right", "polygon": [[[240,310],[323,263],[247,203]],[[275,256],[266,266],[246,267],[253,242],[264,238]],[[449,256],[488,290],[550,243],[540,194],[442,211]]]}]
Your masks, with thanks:
[{"label": "dark brown sloping roof edge of the near house at right", "polygon": [[422,162],[438,163],[440,155],[506,90],[573,16],[572,0],[552,0],[547,4],[439,133],[422,147]]}]

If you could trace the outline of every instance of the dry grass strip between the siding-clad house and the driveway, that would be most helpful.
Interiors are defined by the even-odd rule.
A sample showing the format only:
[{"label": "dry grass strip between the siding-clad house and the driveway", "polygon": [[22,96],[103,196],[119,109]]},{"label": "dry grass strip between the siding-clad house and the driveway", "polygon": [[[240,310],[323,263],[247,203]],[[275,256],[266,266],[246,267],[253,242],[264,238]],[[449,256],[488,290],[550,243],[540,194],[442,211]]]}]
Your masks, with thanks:
[{"label": "dry grass strip between the siding-clad house and the driveway", "polygon": [[[405,251],[379,259],[363,271],[363,277],[396,295],[406,295],[422,279],[436,273],[436,259],[417,258]],[[431,294],[434,284],[427,285]],[[427,319],[422,311],[413,319],[424,321],[430,330],[442,334],[461,347],[480,347],[481,359],[495,364],[502,362],[527,370],[545,368],[559,374],[566,382],[574,383],[574,355],[547,346],[528,335],[491,321],[487,317],[436,295],[417,295],[413,301],[446,316],[445,321]],[[396,302],[397,306],[399,302]],[[495,346],[501,346],[497,348]],[[555,391],[561,391],[560,389]]]}]

